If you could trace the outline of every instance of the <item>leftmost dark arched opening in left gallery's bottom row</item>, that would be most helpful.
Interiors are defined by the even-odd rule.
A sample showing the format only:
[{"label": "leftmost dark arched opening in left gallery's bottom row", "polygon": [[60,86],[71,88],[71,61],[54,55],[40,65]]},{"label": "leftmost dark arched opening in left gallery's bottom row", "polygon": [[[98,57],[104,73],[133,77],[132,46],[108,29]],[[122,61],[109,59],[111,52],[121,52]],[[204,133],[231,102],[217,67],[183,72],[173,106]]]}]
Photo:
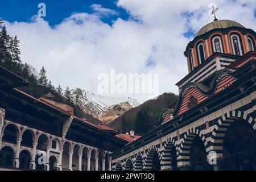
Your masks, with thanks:
[{"label": "leftmost dark arched opening in left gallery's bottom row", "polygon": [[13,167],[14,151],[13,148],[5,146],[0,151],[0,166]]}]

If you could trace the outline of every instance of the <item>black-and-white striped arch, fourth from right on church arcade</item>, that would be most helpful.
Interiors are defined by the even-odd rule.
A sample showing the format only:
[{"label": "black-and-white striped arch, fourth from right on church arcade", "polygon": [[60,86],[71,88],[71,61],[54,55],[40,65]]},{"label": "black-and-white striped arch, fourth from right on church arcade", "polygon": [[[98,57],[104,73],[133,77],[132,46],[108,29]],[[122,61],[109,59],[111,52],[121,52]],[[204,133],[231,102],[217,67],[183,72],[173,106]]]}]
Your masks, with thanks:
[{"label": "black-and-white striped arch, fourth from right on church arcade", "polygon": [[158,148],[156,146],[151,146],[145,156],[145,159],[143,161],[143,169],[144,170],[152,170],[152,165],[153,165],[153,158],[155,155],[155,152],[157,152],[160,163],[161,163],[161,156],[160,156],[160,152],[158,150]]}]

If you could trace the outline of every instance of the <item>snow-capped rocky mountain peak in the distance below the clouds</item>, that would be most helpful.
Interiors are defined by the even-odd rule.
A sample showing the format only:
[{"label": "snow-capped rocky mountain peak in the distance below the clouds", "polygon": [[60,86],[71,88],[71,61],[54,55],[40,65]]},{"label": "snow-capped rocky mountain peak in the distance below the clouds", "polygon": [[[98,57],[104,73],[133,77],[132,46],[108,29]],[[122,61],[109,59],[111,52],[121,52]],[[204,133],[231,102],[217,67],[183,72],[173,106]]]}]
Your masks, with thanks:
[{"label": "snow-capped rocky mountain peak in the distance below the clouds", "polygon": [[[109,111],[112,113],[111,115],[113,115],[113,113],[120,115],[124,111],[140,105],[137,100],[131,97],[106,97],[80,88],[72,89],[71,93],[73,102],[79,105],[81,110],[101,121],[108,120],[109,122],[111,120],[105,118],[106,115],[109,115]],[[117,111],[115,111],[115,109],[117,109]],[[123,110],[123,112],[121,110]]]}]

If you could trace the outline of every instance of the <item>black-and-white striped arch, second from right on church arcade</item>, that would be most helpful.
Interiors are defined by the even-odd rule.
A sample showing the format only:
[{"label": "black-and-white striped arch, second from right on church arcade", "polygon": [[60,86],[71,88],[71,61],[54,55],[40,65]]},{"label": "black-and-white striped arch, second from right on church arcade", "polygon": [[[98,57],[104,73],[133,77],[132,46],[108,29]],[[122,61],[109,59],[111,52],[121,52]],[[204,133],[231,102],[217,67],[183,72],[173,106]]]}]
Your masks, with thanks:
[{"label": "black-and-white striped arch, second from right on church arcade", "polygon": [[205,151],[207,151],[208,143],[203,133],[199,132],[199,130],[195,128],[189,129],[184,134],[184,137],[181,139],[179,156],[177,158],[177,166],[186,166],[187,164],[190,164],[191,146],[192,146],[193,140],[197,136],[201,138],[205,146]]}]

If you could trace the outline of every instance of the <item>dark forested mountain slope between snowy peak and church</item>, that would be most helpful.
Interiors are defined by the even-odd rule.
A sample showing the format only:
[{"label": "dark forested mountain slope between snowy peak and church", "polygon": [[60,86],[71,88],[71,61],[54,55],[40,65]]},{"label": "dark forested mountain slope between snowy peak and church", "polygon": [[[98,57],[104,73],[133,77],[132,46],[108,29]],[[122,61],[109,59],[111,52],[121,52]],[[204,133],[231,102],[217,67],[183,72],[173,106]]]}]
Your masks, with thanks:
[{"label": "dark forested mountain slope between snowy peak and church", "polygon": [[161,111],[177,100],[177,97],[174,93],[163,93],[153,100],[148,100],[138,107],[126,111],[108,126],[121,133],[135,130],[136,134],[143,135],[154,128],[152,123],[158,122]]}]

